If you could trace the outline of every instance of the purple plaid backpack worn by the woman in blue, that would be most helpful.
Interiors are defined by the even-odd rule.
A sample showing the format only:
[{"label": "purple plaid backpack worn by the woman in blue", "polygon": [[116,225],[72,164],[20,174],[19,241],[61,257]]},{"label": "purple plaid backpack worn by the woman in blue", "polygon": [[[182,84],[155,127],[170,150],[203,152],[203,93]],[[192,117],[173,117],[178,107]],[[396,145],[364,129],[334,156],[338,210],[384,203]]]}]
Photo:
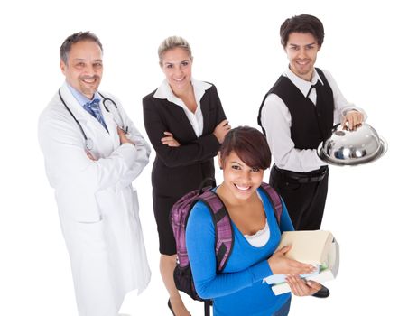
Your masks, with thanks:
[{"label": "purple plaid backpack worn by the woman in blue", "polygon": [[[204,187],[205,183],[208,181],[211,182],[211,186]],[[229,218],[227,209],[222,200],[219,199],[216,192],[212,191],[215,186],[216,182],[214,179],[205,179],[201,182],[198,190],[190,191],[174,203],[171,212],[171,224],[174,238],[176,240],[178,257],[178,263],[173,273],[174,283],[178,290],[187,293],[196,301],[206,300],[199,297],[199,294],[194,287],[189,256],[187,254],[186,227],[190,211],[199,200],[205,203],[210,210],[216,230],[215,250],[217,256],[217,273],[222,272],[227,265],[234,246],[234,232],[231,225],[231,219]],[[262,182],[260,188],[266,193],[265,195],[273,206],[274,215],[279,226],[282,214],[282,201],[278,193],[274,191],[274,188],[269,186],[269,184]]]}]

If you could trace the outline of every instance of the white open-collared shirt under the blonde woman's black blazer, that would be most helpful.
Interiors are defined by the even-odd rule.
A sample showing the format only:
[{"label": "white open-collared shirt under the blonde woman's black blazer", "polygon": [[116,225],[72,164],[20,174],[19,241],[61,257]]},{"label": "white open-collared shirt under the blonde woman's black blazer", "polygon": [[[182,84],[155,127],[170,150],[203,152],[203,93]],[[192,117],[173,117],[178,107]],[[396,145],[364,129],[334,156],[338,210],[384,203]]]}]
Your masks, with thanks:
[{"label": "white open-collared shirt under the blonde woman's black blazer", "polygon": [[189,119],[195,134],[197,135],[197,137],[199,137],[202,135],[202,129],[204,126],[200,100],[202,96],[204,96],[206,90],[211,87],[211,85],[207,82],[195,79],[191,79],[191,85],[194,90],[194,97],[196,98],[197,103],[197,109],[195,113],[192,113],[190,111],[190,109],[184,104],[181,98],[177,98],[176,96],[174,96],[174,93],[172,93],[172,88],[170,87],[169,82],[166,79],[164,79],[162,85],[159,88],[157,88],[153,97],[167,99],[168,101],[181,107],[184,110],[184,113],[186,114],[187,118]]}]

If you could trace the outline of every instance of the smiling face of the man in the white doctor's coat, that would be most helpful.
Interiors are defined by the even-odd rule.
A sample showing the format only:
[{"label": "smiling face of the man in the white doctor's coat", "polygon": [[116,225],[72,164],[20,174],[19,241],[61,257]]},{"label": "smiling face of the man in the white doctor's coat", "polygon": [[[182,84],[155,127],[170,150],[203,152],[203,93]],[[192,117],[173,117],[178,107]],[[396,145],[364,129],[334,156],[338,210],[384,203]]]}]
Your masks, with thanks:
[{"label": "smiling face of the man in the white doctor's coat", "polygon": [[72,88],[92,99],[103,72],[102,51],[97,42],[73,43],[67,61],[60,60],[60,69]]}]

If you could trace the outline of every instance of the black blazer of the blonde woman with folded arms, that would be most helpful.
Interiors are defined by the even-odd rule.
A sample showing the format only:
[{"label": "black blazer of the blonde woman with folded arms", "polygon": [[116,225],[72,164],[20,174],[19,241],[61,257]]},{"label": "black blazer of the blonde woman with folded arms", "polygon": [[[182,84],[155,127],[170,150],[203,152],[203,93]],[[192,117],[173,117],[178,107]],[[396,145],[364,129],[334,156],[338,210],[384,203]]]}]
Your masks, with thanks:
[{"label": "black blazer of the blonde woman with folded arms", "polygon": [[[203,132],[197,138],[184,110],[167,99],[154,98],[156,90],[143,98],[144,128],[156,151],[153,163],[153,196],[180,198],[198,189],[206,177],[214,177],[214,156],[219,143],[214,128],[226,116],[218,97],[217,88],[208,88],[200,100]],[[164,132],[171,132],[181,144],[169,147],[162,144]]]}]

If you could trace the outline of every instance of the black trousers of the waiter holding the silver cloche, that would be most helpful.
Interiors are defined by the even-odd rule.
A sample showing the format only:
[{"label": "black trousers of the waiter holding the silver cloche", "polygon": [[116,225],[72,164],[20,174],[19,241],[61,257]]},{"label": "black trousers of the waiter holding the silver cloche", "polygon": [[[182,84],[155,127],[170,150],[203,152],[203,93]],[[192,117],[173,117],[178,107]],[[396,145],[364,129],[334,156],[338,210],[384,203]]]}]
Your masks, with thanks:
[{"label": "black trousers of the waiter holding the silver cloche", "polygon": [[325,167],[323,170],[324,177],[320,181],[307,183],[294,179],[292,174],[303,176],[303,181],[308,177],[315,180],[322,174],[322,170],[307,173],[286,172],[274,166],[271,171],[269,184],[282,196],[296,230],[320,229],[329,182],[329,169]]}]

